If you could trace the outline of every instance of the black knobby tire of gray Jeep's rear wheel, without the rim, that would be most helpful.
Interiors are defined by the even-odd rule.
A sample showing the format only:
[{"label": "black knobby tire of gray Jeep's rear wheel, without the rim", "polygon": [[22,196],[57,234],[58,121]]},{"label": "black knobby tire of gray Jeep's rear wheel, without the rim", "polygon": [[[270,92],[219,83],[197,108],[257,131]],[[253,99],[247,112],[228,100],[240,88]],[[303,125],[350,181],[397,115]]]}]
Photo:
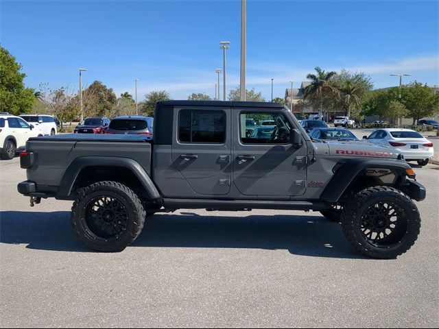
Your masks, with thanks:
[{"label": "black knobby tire of gray Jeep's rear wheel, without the rim", "polygon": [[[90,224],[93,200],[108,197],[117,200],[126,213],[126,228],[115,236],[103,236],[93,232]],[[87,247],[99,252],[121,252],[128,247],[143,230],[146,212],[142,203],[130,188],[118,182],[97,182],[78,191],[71,208],[71,224],[76,234]],[[116,226],[116,224],[115,224]]]}]

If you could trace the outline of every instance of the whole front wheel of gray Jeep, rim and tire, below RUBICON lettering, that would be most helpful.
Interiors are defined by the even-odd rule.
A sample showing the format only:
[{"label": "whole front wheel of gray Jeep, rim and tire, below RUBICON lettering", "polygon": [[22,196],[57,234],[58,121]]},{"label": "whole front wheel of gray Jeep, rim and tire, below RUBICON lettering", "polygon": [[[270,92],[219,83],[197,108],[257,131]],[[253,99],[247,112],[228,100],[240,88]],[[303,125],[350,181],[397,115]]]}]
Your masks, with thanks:
[{"label": "whole front wheel of gray Jeep, rim and tire, below RUBICON lettering", "polygon": [[352,195],[342,210],[342,229],[353,247],[373,258],[396,258],[420,232],[418,208],[396,188],[375,186]]}]

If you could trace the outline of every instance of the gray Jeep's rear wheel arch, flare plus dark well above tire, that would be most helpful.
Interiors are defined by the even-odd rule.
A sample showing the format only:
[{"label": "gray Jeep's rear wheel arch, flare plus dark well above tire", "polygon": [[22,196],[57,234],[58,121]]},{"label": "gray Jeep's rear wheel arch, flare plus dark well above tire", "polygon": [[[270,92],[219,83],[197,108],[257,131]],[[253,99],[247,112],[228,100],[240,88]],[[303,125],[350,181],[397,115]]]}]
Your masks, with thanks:
[{"label": "gray Jeep's rear wheel arch, flare plus dark well above tire", "polygon": [[[97,173],[96,170],[99,170],[101,175],[90,176],[90,173]],[[73,160],[64,173],[56,197],[70,199],[75,193],[75,187],[82,187],[85,183],[93,184],[99,180],[112,180],[126,184],[123,180],[121,181],[121,178],[127,178],[127,175],[130,175],[132,184],[137,185],[148,199],[161,199],[161,194],[154,182],[139,162],[130,158],[101,156],[84,156]]]}]

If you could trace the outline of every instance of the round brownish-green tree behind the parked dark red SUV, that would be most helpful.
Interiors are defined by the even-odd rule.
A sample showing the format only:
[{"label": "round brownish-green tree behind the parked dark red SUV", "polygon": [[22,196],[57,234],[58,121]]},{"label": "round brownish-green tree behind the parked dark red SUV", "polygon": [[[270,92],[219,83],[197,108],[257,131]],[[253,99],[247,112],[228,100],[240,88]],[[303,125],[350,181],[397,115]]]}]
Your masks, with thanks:
[{"label": "round brownish-green tree behind the parked dark red SUV", "polygon": [[116,105],[117,98],[112,88],[95,81],[83,93],[84,114],[106,116]]}]

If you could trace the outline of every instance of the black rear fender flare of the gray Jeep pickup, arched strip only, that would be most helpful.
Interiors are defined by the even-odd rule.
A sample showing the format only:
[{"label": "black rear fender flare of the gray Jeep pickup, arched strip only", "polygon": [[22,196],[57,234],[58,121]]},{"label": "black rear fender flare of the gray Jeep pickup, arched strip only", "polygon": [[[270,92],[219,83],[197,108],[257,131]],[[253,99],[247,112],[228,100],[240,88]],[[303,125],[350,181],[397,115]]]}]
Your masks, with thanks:
[{"label": "black rear fender flare of the gray Jeep pickup, arched strip only", "polygon": [[158,192],[154,182],[152,182],[150,176],[141,167],[139,162],[130,158],[113,158],[104,156],[82,156],[76,158],[71,162],[69,167],[64,173],[64,177],[61,180],[60,186],[56,193],[57,197],[69,197],[73,184],[75,184],[78,175],[82,169],[86,167],[123,167],[129,169],[141,182],[145,188],[146,193],[151,199],[160,199],[161,195]]}]

